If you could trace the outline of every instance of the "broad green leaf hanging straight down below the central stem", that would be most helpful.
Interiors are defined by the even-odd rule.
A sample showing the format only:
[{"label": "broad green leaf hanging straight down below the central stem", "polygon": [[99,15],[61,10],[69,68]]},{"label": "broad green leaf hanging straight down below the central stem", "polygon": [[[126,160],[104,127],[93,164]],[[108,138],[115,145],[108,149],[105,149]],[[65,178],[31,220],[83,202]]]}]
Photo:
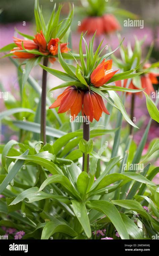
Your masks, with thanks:
[{"label": "broad green leaf hanging straight down below the central stem", "polygon": [[88,238],[91,237],[91,226],[90,221],[88,218],[88,213],[86,209],[86,203],[85,202],[78,202],[76,200],[71,200],[73,211],[78,219],[78,221],[81,223],[81,226],[83,227],[86,235]]}]

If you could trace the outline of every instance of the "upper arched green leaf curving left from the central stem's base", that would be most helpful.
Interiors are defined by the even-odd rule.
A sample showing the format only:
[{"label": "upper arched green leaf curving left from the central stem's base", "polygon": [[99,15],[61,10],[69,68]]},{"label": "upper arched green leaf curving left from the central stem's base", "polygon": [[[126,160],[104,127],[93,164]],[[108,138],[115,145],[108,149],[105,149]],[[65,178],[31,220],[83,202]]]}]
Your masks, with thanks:
[{"label": "upper arched green leaf curving left from the central stem's base", "polygon": [[81,197],[78,195],[78,192],[74,189],[68,178],[64,175],[53,175],[47,178],[41,185],[39,191],[43,190],[47,185],[51,183],[60,183],[63,186],[64,190],[66,190],[66,192],[70,194],[70,196],[72,196],[73,198],[81,199]]}]

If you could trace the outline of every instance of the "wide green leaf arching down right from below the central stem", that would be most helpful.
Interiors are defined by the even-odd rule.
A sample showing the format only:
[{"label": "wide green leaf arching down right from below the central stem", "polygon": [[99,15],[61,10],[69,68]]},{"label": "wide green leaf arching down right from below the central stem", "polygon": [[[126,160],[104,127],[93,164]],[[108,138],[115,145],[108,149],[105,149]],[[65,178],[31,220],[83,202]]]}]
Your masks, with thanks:
[{"label": "wide green leaf arching down right from below the central stem", "polygon": [[125,224],[118,210],[111,202],[103,200],[90,200],[90,202],[87,202],[87,206],[89,208],[104,213],[113,223],[121,239],[129,239],[129,235],[125,227]]}]

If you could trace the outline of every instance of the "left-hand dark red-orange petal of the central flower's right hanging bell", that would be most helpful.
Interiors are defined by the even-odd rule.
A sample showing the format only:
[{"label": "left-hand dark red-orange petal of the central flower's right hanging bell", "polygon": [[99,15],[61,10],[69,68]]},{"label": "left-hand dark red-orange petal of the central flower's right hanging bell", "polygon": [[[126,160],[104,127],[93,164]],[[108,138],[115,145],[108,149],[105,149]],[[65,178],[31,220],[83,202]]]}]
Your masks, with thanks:
[{"label": "left-hand dark red-orange petal of the central flower's right hanging bell", "polygon": [[94,108],[90,92],[86,92],[84,95],[83,110],[84,114],[87,116],[87,119],[93,122]]}]

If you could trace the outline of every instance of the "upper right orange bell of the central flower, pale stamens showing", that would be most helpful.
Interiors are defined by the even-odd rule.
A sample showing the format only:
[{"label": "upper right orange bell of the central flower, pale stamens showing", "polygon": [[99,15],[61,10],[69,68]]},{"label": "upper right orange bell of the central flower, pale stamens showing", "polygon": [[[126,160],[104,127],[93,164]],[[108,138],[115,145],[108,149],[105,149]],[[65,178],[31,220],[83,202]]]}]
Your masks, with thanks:
[{"label": "upper right orange bell of the central flower, pale stamens showing", "polygon": [[[119,69],[118,69],[119,70]],[[97,66],[97,68],[91,74],[91,83],[95,87],[100,87],[107,83],[112,76],[118,71],[113,71],[112,69],[112,60],[105,59]]]}]

